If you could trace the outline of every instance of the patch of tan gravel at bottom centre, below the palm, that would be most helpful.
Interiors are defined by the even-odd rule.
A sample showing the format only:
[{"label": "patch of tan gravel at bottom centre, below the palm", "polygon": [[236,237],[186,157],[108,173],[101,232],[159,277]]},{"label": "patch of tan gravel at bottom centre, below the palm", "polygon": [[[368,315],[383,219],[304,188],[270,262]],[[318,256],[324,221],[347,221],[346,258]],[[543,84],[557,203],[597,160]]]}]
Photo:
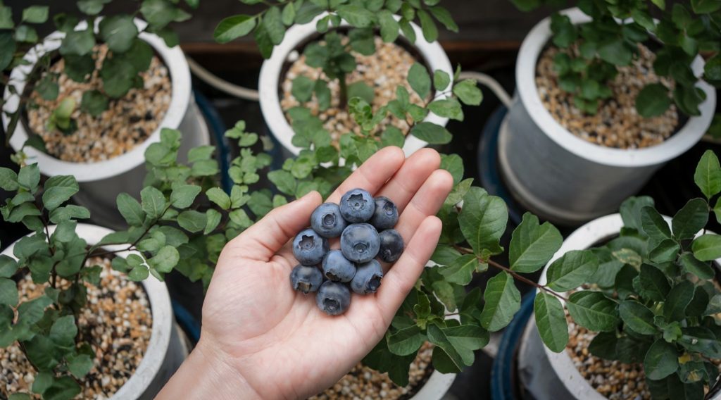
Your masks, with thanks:
[{"label": "patch of tan gravel at bottom centre, below the palm", "polygon": [[311,397],[311,400],[410,399],[433,373],[433,368],[426,368],[432,356],[433,345],[426,342],[410,365],[408,386],[404,388],[393,383],[387,373],[379,373],[358,363],[338,383]]}]

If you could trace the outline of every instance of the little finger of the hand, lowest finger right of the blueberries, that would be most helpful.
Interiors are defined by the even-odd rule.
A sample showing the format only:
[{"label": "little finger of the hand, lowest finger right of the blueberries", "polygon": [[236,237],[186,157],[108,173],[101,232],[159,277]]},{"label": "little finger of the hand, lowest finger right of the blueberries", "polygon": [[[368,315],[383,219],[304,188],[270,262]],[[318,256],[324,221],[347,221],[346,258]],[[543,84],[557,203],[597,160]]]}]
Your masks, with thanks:
[{"label": "little finger of the hand, lowest finger right of the blueberries", "polygon": [[376,293],[378,306],[390,321],[415,285],[441,236],[441,220],[435,215],[423,219],[398,262],[383,278]]}]

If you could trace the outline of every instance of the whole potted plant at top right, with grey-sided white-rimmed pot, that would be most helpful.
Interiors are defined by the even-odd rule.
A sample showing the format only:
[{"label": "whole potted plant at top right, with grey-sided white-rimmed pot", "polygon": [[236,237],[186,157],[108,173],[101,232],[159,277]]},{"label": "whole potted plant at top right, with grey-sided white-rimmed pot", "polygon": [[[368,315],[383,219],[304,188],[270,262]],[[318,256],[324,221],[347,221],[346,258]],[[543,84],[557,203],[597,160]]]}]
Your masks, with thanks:
[{"label": "whole potted plant at top right, with grey-sided white-rimmed pot", "polygon": [[[514,0],[524,10],[546,3]],[[579,1],[523,41],[498,151],[528,210],[567,224],[613,213],[709,128],[718,4],[651,3]],[[705,65],[699,52],[712,55]]]}]

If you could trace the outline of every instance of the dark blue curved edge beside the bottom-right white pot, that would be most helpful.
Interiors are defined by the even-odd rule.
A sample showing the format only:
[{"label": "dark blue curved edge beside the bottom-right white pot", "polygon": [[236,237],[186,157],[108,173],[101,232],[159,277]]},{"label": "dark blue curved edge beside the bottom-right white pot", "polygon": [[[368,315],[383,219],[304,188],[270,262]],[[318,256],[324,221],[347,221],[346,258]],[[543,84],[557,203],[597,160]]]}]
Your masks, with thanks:
[{"label": "dark blue curved edge beside the bottom-right white pot", "polygon": [[500,339],[498,354],[493,361],[491,368],[491,399],[492,400],[516,400],[513,394],[513,366],[516,345],[523,335],[528,319],[534,312],[534,299],[536,291],[526,294],[521,302],[521,309],[513,317],[513,321],[505,329]]}]

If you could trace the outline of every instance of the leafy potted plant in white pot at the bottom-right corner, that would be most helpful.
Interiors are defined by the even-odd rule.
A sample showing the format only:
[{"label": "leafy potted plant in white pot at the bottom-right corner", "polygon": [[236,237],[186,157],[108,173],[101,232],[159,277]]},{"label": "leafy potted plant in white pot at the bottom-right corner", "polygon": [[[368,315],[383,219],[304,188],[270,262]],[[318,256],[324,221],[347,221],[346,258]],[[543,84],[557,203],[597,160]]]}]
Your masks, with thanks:
[{"label": "leafy potted plant in white pot at the bottom-right corner", "polygon": [[[601,265],[583,288],[559,293],[569,301],[567,330],[561,329],[562,313],[558,326],[536,316],[526,328],[519,362],[528,365],[523,375],[534,382],[536,398],[720,398],[721,236],[705,230],[720,177],[719,161],[707,151],[695,176],[705,199],[689,200],[668,218],[650,197],[631,197],[620,214],[598,218],[565,240],[554,258],[590,249]],[[555,263],[544,270],[541,285],[553,279]],[[536,326],[546,331],[541,337],[558,329],[557,336],[568,335],[570,342],[536,350],[536,357]],[[528,357],[534,359],[523,360]]]}]

